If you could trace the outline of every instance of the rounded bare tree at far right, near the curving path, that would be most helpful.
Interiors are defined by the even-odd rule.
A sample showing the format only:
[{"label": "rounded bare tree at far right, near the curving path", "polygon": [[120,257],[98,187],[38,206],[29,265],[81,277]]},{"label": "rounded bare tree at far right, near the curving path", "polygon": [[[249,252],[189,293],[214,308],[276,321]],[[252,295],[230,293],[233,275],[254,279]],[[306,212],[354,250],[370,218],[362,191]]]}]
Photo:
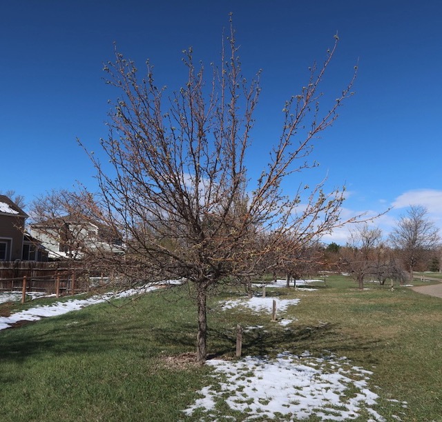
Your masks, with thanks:
[{"label": "rounded bare tree at far right, near the curving path", "polygon": [[429,257],[440,240],[439,228],[422,205],[410,205],[407,214],[401,216],[390,234],[390,243],[401,254],[411,280],[416,265]]}]

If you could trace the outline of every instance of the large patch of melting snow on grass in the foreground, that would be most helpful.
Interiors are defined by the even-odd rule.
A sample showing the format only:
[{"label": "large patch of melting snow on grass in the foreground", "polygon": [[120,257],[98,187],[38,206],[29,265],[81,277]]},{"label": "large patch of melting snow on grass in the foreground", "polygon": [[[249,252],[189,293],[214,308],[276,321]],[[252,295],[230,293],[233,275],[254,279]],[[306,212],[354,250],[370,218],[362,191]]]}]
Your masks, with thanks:
[{"label": "large patch of melting snow on grass in the foreground", "polygon": [[284,352],[276,359],[247,356],[240,361],[206,363],[213,367],[214,382],[200,390],[202,398],[184,410],[189,416],[201,410],[209,418],[201,420],[224,420],[216,406],[224,402],[231,410],[247,414],[247,421],[278,416],[348,421],[361,416],[363,409],[374,418],[370,421],[386,421],[372,408],[378,399],[367,384],[372,372],[353,366],[345,357]]}]

